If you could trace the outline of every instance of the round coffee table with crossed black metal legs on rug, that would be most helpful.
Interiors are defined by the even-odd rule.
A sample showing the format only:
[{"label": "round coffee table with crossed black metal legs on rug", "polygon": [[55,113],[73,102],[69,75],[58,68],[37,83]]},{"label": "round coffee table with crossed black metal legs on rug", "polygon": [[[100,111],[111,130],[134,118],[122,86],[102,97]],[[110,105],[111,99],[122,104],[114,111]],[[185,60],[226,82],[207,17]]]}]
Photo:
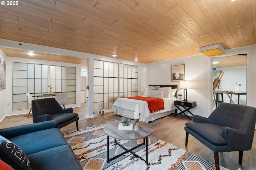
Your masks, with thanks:
[{"label": "round coffee table with crossed black metal legs on rug", "polygon": [[[135,148],[138,148],[139,146],[142,145],[146,145],[146,160],[144,160],[146,162],[146,164],[148,164],[148,136],[150,134],[152,134],[154,128],[149,125],[148,123],[145,122],[140,122],[140,130],[139,131],[134,131],[134,130],[118,130],[118,124],[121,123],[121,121],[114,121],[112,123],[109,123],[108,125],[106,125],[104,127],[104,132],[107,135],[107,153],[108,153],[108,162],[110,162],[111,160],[114,160],[120,156],[122,156],[123,154],[126,154],[127,152],[132,153],[134,156],[136,156],[137,158],[140,158],[141,160],[144,160],[143,158],[141,158],[140,156],[138,156],[137,154],[135,154],[134,152],[132,152],[132,150],[134,150]],[[132,124],[135,125],[135,121],[132,120]],[[120,147],[122,147],[124,150],[126,150],[125,152],[123,152],[122,154],[119,154],[117,156],[114,156],[113,158],[109,158],[109,137],[114,138],[114,142],[116,144],[118,144]],[[143,138],[143,143],[139,144],[131,149],[127,149],[124,146],[122,146],[121,144],[119,144],[118,142],[116,142],[116,139],[120,139],[120,140],[136,140],[136,139],[141,139]]]}]

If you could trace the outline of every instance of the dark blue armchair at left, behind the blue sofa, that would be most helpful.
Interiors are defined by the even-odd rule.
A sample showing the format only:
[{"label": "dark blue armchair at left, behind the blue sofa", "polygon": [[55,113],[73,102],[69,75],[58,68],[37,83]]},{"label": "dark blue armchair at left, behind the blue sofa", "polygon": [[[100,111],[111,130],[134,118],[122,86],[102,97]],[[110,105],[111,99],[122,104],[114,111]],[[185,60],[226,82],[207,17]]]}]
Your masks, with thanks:
[{"label": "dark blue armchair at left, behind the blue sofa", "polygon": [[54,120],[62,128],[76,121],[78,130],[78,114],[73,113],[73,108],[62,109],[55,98],[32,100],[32,111],[34,123]]}]

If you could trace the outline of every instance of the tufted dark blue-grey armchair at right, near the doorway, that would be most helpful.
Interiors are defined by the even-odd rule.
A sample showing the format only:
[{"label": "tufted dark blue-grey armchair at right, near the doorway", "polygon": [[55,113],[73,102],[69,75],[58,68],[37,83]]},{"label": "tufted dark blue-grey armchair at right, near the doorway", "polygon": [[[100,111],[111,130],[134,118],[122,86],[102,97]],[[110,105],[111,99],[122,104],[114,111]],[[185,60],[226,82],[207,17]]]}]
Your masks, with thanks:
[{"label": "tufted dark blue-grey armchair at right, near the doorway", "polygon": [[206,117],[195,115],[193,122],[187,122],[186,142],[188,134],[194,136],[214,152],[216,169],[220,169],[218,152],[239,151],[239,164],[242,164],[244,150],[252,148],[256,121],[256,108],[220,103],[220,105]]}]

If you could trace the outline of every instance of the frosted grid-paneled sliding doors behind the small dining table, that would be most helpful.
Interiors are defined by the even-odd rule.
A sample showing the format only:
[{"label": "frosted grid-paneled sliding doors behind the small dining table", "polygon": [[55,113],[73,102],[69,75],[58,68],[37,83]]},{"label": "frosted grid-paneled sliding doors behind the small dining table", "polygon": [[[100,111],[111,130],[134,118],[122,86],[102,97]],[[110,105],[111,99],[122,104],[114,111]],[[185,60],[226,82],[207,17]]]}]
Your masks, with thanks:
[{"label": "frosted grid-paneled sliding doors behind the small dining table", "polygon": [[28,103],[26,93],[32,96],[48,93],[48,85],[51,85],[54,93],[66,93],[68,104],[76,103],[76,67],[13,62],[12,73],[12,110],[14,111],[30,109],[31,105]]}]

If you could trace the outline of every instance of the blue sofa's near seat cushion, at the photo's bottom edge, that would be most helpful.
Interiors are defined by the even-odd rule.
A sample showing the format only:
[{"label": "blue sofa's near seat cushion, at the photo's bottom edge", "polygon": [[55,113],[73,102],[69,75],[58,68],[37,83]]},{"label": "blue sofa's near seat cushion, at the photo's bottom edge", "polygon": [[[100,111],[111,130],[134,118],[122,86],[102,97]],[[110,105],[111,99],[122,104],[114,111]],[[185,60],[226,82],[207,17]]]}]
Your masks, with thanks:
[{"label": "blue sofa's near seat cushion, at the photo's bottom edge", "polygon": [[34,170],[82,170],[68,144],[30,154],[28,158]]}]

